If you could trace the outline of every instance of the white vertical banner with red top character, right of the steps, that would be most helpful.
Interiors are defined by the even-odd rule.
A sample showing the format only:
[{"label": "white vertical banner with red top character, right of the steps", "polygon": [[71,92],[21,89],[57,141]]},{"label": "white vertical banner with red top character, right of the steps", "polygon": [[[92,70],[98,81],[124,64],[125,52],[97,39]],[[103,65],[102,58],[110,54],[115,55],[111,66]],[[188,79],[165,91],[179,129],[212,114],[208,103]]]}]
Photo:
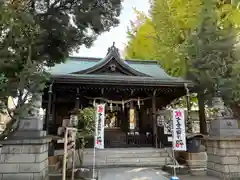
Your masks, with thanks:
[{"label": "white vertical banner with red top character, right of the steps", "polygon": [[173,115],[173,150],[186,151],[185,118],[183,109],[174,109]]}]

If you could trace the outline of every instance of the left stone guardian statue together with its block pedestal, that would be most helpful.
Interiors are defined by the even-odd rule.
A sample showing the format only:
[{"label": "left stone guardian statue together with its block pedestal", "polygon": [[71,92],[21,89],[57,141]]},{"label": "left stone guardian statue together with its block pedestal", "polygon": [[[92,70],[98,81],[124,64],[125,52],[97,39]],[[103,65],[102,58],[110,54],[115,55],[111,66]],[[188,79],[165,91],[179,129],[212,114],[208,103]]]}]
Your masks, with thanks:
[{"label": "left stone guardian statue together with its block pedestal", "polygon": [[0,180],[46,180],[48,178],[48,142],[39,115],[41,94],[28,116],[20,120],[18,130],[0,142]]}]

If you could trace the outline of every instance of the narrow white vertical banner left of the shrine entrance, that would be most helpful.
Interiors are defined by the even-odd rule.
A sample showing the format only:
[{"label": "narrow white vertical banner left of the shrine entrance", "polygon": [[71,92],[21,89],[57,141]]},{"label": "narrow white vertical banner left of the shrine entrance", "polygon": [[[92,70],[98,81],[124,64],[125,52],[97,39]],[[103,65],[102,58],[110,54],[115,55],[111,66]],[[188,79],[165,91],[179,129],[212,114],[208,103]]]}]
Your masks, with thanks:
[{"label": "narrow white vertical banner left of the shrine entrance", "polygon": [[105,121],[105,104],[97,104],[95,119],[95,144],[97,149],[104,149],[104,121]]}]

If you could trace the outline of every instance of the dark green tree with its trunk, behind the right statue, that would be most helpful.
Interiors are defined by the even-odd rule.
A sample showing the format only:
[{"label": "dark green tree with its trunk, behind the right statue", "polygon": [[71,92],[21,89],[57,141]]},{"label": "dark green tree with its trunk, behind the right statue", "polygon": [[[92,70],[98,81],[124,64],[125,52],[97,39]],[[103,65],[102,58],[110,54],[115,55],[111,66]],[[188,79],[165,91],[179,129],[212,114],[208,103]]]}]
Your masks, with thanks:
[{"label": "dark green tree with its trunk, behind the right statue", "polygon": [[[215,96],[216,84],[224,82],[226,87],[229,79],[234,78],[234,66],[239,63],[235,57],[236,32],[231,26],[219,25],[215,1],[202,0],[200,24],[186,41],[188,59],[188,79],[197,84],[200,129],[206,134],[204,113],[205,99],[211,100]],[[230,23],[229,23],[230,24]],[[224,27],[224,28],[223,28]],[[239,75],[238,75],[239,76]],[[228,83],[229,88],[229,83]]]}]

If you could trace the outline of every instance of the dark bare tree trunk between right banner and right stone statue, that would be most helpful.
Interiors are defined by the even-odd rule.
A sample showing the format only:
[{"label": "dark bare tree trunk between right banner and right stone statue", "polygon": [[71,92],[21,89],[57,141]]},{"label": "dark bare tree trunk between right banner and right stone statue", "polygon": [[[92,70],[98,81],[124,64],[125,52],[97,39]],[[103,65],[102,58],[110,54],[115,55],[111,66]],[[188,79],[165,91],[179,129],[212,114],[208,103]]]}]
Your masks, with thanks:
[{"label": "dark bare tree trunk between right banner and right stone statue", "polygon": [[205,100],[204,94],[198,93],[198,114],[199,114],[199,123],[200,123],[200,133],[207,134],[207,123],[205,116]]}]

